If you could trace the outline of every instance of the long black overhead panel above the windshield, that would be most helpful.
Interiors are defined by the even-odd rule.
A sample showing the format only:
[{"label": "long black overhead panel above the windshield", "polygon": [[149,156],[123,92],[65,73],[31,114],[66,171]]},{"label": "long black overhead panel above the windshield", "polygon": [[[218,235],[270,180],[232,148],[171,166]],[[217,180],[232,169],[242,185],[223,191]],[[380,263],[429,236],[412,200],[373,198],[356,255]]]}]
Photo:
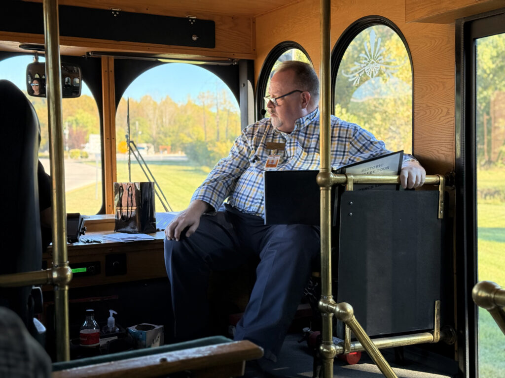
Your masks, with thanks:
[{"label": "long black overhead panel above the windshield", "polygon": [[[0,30],[43,34],[42,4],[7,2],[2,5]],[[175,46],[216,46],[216,25],[211,20],[170,17],[59,6],[60,35]]]}]

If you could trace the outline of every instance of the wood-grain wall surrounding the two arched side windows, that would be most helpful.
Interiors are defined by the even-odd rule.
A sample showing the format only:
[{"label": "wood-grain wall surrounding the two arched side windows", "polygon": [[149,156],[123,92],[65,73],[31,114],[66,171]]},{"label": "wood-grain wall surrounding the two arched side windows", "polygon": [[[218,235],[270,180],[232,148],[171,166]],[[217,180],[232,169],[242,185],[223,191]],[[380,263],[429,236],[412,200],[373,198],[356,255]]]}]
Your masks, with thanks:
[{"label": "wood-grain wall surrounding the two arched side windows", "polygon": [[[319,0],[304,0],[256,18],[256,78],[278,43],[303,46],[320,64]],[[405,0],[331,2],[332,48],[354,21],[371,15],[391,20],[405,36],[414,67],[414,153],[429,174],[455,163],[455,25],[406,23]],[[387,144],[387,141],[386,141]]]}]

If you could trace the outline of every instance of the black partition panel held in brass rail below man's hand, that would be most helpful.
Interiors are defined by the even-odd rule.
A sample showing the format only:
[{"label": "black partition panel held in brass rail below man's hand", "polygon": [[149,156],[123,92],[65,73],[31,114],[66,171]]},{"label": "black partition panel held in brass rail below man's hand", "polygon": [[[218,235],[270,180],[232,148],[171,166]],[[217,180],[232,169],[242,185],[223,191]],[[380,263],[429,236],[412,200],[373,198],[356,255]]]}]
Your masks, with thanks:
[{"label": "black partition panel held in brass rail below man's hand", "polygon": [[440,299],[438,191],[344,192],[338,302],[369,336],[429,330]]}]

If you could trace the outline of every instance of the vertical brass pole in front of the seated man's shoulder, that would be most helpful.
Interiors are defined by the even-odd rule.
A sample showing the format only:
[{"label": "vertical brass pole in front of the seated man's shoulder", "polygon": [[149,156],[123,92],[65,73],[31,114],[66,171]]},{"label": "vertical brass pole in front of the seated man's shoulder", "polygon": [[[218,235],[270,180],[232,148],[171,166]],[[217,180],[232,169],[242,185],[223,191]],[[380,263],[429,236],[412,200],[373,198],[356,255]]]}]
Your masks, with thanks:
[{"label": "vertical brass pole in front of the seated man's shoulder", "polygon": [[[320,75],[320,156],[319,175],[329,176],[330,162],[330,0],[320,2],[321,65]],[[331,185],[329,180],[321,184],[321,302],[333,301],[331,289]],[[333,358],[336,354],[332,338],[333,313],[322,311],[322,340],[319,352],[322,357],[323,376],[333,377]]]}]

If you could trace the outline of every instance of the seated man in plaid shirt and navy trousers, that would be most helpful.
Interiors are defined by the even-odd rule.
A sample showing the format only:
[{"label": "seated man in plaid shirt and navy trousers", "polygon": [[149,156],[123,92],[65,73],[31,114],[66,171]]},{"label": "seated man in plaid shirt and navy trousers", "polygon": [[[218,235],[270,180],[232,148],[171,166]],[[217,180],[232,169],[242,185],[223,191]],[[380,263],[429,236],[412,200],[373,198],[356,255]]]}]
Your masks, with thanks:
[{"label": "seated man in plaid shirt and navy trousers", "polygon": [[[319,80],[308,64],[283,62],[269,87],[270,118],[242,131],[193,194],[188,208],[165,230],[165,265],[171,282],[175,336],[204,336],[210,271],[260,258],[257,279],[235,339],[250,340],[275,361],[319,257],[319,228],[265,225],[265,165],[279,170],[319,169]],[[333,168],[388,153],[356,124],[331,117]],[[424,183],[425,171],[404,155],[403,187]],[[289,191],[289,187],[280,187]],[[227,199],[226,203],[223,202]]]}]

